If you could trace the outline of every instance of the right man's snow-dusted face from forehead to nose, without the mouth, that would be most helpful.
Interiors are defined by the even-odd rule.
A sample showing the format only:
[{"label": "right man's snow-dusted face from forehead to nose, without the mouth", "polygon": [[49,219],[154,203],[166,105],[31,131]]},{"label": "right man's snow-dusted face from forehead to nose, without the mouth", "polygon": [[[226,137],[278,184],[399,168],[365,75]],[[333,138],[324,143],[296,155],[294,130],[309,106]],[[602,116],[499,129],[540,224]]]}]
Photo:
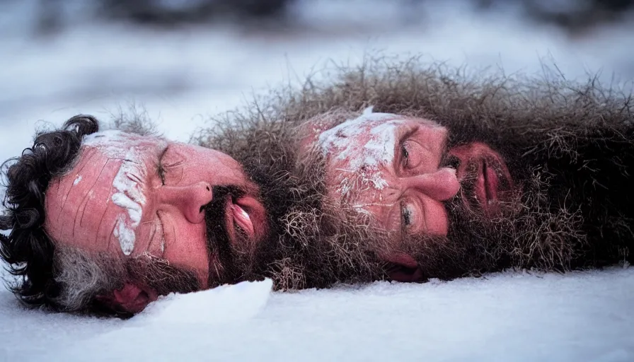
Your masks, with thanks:
[{"label": "right man's snow-dusted face from forehead to nose, without the mouth", "polygon": [[[369,214],[395,235],[447,235],[443,202],[456,196],[460,185],[455,168],[444,165],[449,156],[444,127],[429,119],[366,111],[335,127],[315,127],[309,137],[325,156],[326,197],[335,204]],[[416,266],[400,253],[382,257]]]}]

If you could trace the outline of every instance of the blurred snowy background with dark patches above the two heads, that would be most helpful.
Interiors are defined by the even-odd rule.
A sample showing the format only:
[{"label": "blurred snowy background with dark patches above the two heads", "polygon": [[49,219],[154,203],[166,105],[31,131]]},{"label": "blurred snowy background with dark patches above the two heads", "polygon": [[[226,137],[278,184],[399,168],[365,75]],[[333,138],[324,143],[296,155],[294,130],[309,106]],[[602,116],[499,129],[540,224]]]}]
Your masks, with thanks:
[{"label": "blurred snowy background with dark patches above the two heads", "polygon": [[0,158],[77,113],[208,115],[333,64],[408,57],[634,79],[634,0],[0,0]]}]

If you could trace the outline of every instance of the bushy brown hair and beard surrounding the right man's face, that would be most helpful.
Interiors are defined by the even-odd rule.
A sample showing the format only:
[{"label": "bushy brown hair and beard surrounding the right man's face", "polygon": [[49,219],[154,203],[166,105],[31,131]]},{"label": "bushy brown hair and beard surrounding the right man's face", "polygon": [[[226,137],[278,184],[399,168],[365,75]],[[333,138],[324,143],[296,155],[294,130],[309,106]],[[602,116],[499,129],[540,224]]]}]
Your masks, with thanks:
[{"label": "bushy brown hair and beard surrounding the right man's face", "polygon": [[[418,59],[382,64],[382,58],[370,59],[361,69],[335,70],[332,83],[274,93],[245,112],[218,117],[198,139],[243,164],[282,160],[289,175],[314,178],[291,185],[311,206],[291,205],[287,218],[280,219],[289,230],[279,230],[282,247],[267,274],[280,288],[381,279],[395,267],[376,261],[390,247],[389,235],[321,204],[323,175],[307,170],[318,169],[318,162],[296,159],[298,130],[306,120],[367,105],[374,105],[374,112],[439,122],[449,129],[450,148],[487,144],[504,158],[521,191],[511,192],[500,212],[487,216],[477,204],[465,206],[463,199],[475,193],[464,182],[463,199],[446,202],[451,224],[446,237],[409,236],[399,246],[415,256],[420,274],[451,279],[506,267],[565,270],[634,261],[629,252],[634,250],[634,108],[628,95],[603,88],[594,78],[587,83],[557,74],[478,78]],[[309,187],[302,188],[302,182]],[[312,193],[306,191],[310,187]]]}]

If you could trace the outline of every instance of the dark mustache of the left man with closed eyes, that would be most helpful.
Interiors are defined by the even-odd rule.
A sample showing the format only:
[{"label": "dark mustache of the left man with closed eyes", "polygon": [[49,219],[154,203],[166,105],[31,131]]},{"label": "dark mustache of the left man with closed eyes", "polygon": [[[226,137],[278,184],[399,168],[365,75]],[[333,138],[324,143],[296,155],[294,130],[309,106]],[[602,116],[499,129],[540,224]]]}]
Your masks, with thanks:
[{"label": "dark mustache of the left man with closed eyes", "polygon": [[[239,199],[246,191],[236,186],[214,186],[212,202],[203,206],[204,223],[207,230],[207,252],[209,254],[209,286],[230,283],[236,278],[234,250],[226,224],[226,206],[229,197]],[[241,233],[236,235],[241,236]]]}]

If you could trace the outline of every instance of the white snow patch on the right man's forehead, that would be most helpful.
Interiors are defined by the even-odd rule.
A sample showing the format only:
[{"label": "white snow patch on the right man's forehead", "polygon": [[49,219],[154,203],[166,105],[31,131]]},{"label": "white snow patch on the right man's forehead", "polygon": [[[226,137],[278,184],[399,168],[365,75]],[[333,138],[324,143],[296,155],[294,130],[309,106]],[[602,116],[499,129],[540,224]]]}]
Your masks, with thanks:
[{"label": "white snow patch on the right man's forehead", "polygon": [[398,127],[405,123],[402,116],[391,113],[373,113],[369,107],[355,119],[321,133],[318,145],[329,163],[345,163],[338,191],[346,195],[351,189],[374,187],[384,189],[388,182],[381,169],[394,160],[394,147]]}]

